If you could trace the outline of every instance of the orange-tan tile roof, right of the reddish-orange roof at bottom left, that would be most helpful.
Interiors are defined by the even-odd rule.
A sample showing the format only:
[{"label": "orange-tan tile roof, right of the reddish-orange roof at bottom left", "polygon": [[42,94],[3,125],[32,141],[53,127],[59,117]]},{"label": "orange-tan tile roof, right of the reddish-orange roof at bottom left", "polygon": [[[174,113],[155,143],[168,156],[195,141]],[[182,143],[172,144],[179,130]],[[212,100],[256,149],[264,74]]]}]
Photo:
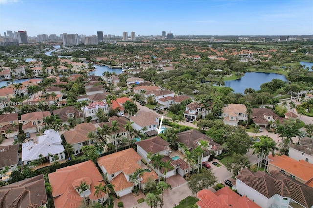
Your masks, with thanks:
[{"label": "orange-tan tile roof, right of the reddish-orange roof at bottom left", "polygon": [[107,170],[108,174],[122,171],[124,174],[129,175],[134,173],[137,168],[140,168],[137,164],[139,160],[141,160],[141,157],[133,148],[130,148],[100,157],[97,161],[99,166],[103,166]]}]

